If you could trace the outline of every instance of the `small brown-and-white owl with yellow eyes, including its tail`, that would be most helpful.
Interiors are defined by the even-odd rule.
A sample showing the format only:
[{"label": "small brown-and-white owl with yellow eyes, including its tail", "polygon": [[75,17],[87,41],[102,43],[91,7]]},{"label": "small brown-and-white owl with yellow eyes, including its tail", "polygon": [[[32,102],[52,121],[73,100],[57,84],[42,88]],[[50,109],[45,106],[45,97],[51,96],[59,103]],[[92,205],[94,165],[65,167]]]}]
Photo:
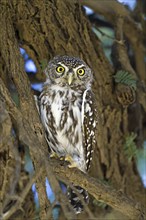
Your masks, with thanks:
[{"label": "small brown-and-white owl with yellow eyes, including its tail", "polygon": [[[45,69],[46,82],[39,97],[39,111],[51,154],[64,157],[70,167],[86,173],[92,160],[97,124],[93,80],[89,66],[79,58],[56,56]],[[88,202],[88,193],[75,186]],[[68,197],[76,213],[83,205],[73,190]]]}]

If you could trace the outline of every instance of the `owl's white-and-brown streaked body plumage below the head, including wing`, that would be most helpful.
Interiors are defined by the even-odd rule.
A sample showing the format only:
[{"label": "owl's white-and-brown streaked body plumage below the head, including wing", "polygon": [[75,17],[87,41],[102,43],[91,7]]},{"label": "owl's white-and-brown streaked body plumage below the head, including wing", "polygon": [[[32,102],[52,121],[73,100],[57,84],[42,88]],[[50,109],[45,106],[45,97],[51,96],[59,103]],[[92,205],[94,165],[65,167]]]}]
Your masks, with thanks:
[{"label": "owl's white-and-brown streaked body plumage below the head, including wing", "polygon": [[[57,152],[57,154],[60,156],[65,156],[65,154],[71,153],[78,156],[81,156],[82,154],[83,160],[81,162],[83,164],[80,163],[80,166],[77,167],[83,172],[86,172],[89,169],[90,162],[92,160],[92,153],[94,148],[93,146],[95,145],[95,129],[97,123],[96,111],[95,108],[93,108],[95,103],[92,101],[93,94],[91,90],[88,90],[86,92],[85,100],[83,103],[82,97],[84,93],[82,94],[82,91],[73,91],[71,98],[69,92],[62,91],[61,88],[58,90],[58,92],[55,92],[54,90],[47,90],[47,88],[44,88],[40,95],[40,111],[42,112],[41,119],[46,129],[46,139],[48,145],[51,150]],[[55,111],[55,107],[52,107],[52,103],[55,99],[59,100],[60,102],[60,107],[57,109],[57,112]],[[84,112],[82,112],[83,106]],[[76,114],[75,109],[77,109]],[[59,114],[59,112],[62,112],[62,114]],[[83,121],[81,122],[82,117]],[[76,129],[79,121],[82,123],[82,125],[80,125],[80,128]],[[68,127],[66,125],[68,125]],[[59,145],[59,137],[57,137],[56,129],[58,131],[63,131],[62,134],[65,134],[65,136],[68,138],[72,150],[64,150],[65,146]],[[78,132],[75,132],[76,130]],[[81,137],[82,134],[83,136]],[[80,138],[82,140],[79,142]],[[64,144],[67,143],[66,141],[67,140],[65,138]],[[78,146],[78,142],[79,144],[82,142],[81,147],[83,147],[84,150]],[[75,148],[77,148],[77,151]]]}]

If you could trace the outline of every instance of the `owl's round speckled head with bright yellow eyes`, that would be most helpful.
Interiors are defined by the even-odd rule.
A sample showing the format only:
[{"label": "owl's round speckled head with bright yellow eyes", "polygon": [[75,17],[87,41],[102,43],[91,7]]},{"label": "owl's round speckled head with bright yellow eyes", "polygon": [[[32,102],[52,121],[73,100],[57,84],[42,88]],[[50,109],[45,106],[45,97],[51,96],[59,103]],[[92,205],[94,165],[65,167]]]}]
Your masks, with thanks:
[{"label": "owl's round speckled head with bright yellow eyes", "polygon": [[92,71],[88,65],[77,57],[56,56],[48,63],[45,69],[47,83],[89,88],[92,82]]}]

